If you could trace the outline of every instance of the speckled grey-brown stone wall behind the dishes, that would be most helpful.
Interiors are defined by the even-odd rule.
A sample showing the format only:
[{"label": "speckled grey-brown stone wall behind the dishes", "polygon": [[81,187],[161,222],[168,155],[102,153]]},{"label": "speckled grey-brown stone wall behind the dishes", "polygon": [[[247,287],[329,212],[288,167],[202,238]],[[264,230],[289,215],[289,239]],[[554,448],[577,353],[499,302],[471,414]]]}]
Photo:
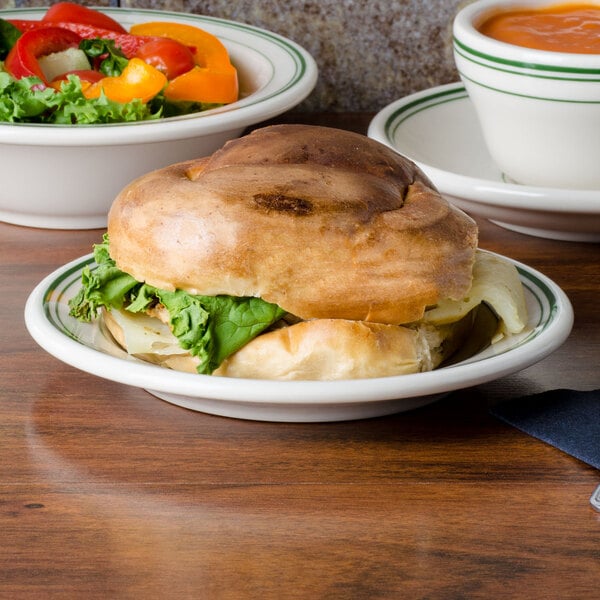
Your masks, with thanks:
[{"label": "speckled grey-brown stone wall behind the dishes", "polygon": [[[99,0],[263,27],[304,46],[319,67],[302,111],[374,112],[412,92],[456,81],[452,19],[468,0]],[[45,6],[0,0],[2,8]]]}]

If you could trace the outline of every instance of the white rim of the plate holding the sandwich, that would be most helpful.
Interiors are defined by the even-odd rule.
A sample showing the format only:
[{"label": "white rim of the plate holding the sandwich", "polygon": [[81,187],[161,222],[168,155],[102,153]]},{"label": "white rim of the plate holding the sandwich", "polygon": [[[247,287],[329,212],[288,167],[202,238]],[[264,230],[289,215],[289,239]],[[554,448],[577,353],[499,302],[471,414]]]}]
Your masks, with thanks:
[{"label": "white rim of the plate holding the sandwich", "polygon": [[[487,250],[482,251],[501,256]],[[72,275],[80,271],[92,256],[84,255],[57,268],[31,291],[24,310],[25,324],[30,335],[46,352],[81,371],[117,383],[192,399],[206,398],[246,406],[260,403],[277,407],[316,407],[324,404],[352,406],[389,400],[414,400],[432,394],[448,393],[498,379],[539,362],[564,343],[574,320],[572,305],[566,293],[555,282],[536,269],[502,257],[512,262],[521,274],[527,273],[545,286],[543,293],[552,295],[554,308],[544,322],[543,330],[531,341],[523,341],[501,354],[426,373],[372,379],[271,381],[196,375],[171,371],[133,357],[125,359],[106,354],[67,336],[49,321],[48,290],[59,278],[66,277],[67,273]],[[530,325],[539,326],[539,323]],[[531,342],[536,342],[533,349]],[[528,352],[528,349],[535,352]],[[128,369],[122,369],[125,363]],[[103,368],[104,365],[108,368]],[[120,372],[118,367],[121,367]],[[115,369],[116,374],[107,374],[107,370],[111,368]]]}]

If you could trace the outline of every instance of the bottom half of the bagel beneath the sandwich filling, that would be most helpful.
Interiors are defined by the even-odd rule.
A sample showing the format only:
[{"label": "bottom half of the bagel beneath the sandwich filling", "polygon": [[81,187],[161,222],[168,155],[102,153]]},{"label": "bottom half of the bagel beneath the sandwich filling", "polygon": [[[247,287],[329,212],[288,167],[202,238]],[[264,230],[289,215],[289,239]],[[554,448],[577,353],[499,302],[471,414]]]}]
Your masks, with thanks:
[{"label": "bottom half of the bagel beneath the sandwich filling", "polygon": [[[344,319],[278,326],[227,358],[213,376],[341,380],[431,371],[463,348],[468,338],[477,338],[475,349],[489,344],[497,328],[494,315],[486,331],[479,329],[474,336],[475,324],[482,322],[477,316],[482,307],[485,305],[455,323],[438,327]],[[103,319],[117,343],[130,354],[171,369],[196,372],[199,360],[181,349],[168,325],[157,318],[113,309],[105,311]],[[148,336],[154,338],[150,348]],[[138,342],[140,338],[146,341]]]}]

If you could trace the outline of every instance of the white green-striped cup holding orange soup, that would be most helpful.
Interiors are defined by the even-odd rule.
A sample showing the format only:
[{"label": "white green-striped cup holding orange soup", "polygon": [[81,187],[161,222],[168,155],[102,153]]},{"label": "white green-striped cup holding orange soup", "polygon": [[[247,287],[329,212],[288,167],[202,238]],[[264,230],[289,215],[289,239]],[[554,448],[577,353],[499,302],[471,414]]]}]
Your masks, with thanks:
[{"label": "white green-striped cup holding orange soup", "polygon": [[[477,27],[556,0],[478,0],[454,20],[454,58],[489,152],[517,183],[600,189],[600,55],[534,50]],[[599,0],[591,0],[597,4]]]}]

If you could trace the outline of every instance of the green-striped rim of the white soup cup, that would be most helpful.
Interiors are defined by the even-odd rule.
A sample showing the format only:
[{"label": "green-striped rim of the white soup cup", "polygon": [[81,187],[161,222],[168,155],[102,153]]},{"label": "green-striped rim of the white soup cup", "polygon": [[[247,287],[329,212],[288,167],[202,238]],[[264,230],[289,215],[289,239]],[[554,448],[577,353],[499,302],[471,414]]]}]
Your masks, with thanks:
[{"label": "green-striped rim of the white soup cup", "polygon": [[[477,25],[484,17],[511,9],[527,9],[557,4],[577,4],[573,0],[475,0],[460,9],[453,20],[455,48],[490,63],[522,69],[600,75],[600,54],[578,54],[526,48],[501,42],[480,33]],[[588,0],[597,5],[600,0]]]}]

